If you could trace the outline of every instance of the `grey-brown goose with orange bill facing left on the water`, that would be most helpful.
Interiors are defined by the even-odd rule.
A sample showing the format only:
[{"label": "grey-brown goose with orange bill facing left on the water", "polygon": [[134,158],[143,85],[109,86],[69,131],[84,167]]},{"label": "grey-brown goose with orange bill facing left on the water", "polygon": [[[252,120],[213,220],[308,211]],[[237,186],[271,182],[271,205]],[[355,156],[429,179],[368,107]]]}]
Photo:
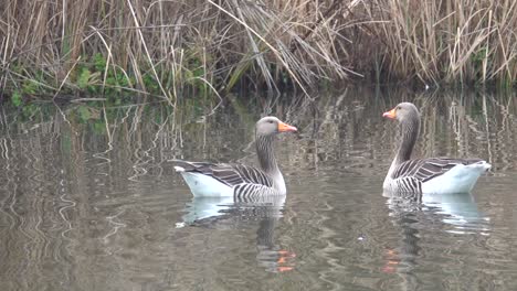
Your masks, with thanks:
[{"label": "grey-brown goose with orange bill facing left on the water", "polygon": [[471,192],[479,175],[490,169],[490,164],[481,159],[411,159],[420,128],[416,107],[401,103],[382,117],[399,121],[402,138],[386,175],[384,191],[421,194]]}]

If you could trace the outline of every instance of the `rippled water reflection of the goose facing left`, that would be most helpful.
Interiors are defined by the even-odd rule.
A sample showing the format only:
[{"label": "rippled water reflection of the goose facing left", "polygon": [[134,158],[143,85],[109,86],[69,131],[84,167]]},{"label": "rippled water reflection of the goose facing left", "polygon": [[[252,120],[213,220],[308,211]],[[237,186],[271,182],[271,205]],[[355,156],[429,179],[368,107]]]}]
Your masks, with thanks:
[{"label": "rippled water reflection of the goose facing left", "polygon": [[436,222],[452,226],[454,234],[481,234],[489,230],[485,217],[478,209],[471,193],[446,195],[392,194],[383,193],[388,197],[389,216],[393,225],[400,228],[398,248],[384,251],[382,271],[398,273],[403,279],[405,290],[414,290],[419,282],[412,272],[416,267],[416,259],[422,252],[422,233],[433,231]]}]

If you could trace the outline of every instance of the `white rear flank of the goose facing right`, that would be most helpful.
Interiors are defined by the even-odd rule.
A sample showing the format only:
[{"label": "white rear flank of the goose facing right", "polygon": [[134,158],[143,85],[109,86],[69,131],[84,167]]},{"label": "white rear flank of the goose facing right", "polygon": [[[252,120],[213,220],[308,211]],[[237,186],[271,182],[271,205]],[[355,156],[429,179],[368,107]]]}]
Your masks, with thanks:
[{"label": "white rear flank of the goose facing right", "polygon": [[[176,166],[175,166],[176,168]],[[181,166],[177,166],[181,168]],[[181,168],[182,169],[182,168]],[[201,173],[178,171],[196,197],[233,197],[233,188]]]}]

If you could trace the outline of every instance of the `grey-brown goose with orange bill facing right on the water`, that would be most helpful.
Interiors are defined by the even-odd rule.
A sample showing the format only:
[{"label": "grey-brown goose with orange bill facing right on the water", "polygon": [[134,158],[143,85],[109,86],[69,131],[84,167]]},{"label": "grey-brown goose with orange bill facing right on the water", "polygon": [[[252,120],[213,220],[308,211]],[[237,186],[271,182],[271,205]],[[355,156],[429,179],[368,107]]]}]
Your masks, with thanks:
[{"label": "grey-brown goose with orange bill facing right on the water", "polygon": [[262,195],[285,195],[284,176],[276,164],[273,141],[277,133],[297,129],[276,117],[264,117],[255,126],[255,146],[260,169],[244,164],[207,163],[172,160],[194,196],[240,200]]}]

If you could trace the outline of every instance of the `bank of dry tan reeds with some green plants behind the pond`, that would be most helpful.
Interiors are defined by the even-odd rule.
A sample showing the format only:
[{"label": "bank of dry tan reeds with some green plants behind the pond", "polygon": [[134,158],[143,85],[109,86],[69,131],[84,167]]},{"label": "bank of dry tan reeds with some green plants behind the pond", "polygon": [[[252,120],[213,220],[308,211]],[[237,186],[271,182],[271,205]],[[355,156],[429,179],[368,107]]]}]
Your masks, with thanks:
[{"label": "bank of dry tan reeds with some green plants behind the pond", "polygon": [[513,0],[8,0],[0,15],[0,87],[15,106],[517,79]]}]

